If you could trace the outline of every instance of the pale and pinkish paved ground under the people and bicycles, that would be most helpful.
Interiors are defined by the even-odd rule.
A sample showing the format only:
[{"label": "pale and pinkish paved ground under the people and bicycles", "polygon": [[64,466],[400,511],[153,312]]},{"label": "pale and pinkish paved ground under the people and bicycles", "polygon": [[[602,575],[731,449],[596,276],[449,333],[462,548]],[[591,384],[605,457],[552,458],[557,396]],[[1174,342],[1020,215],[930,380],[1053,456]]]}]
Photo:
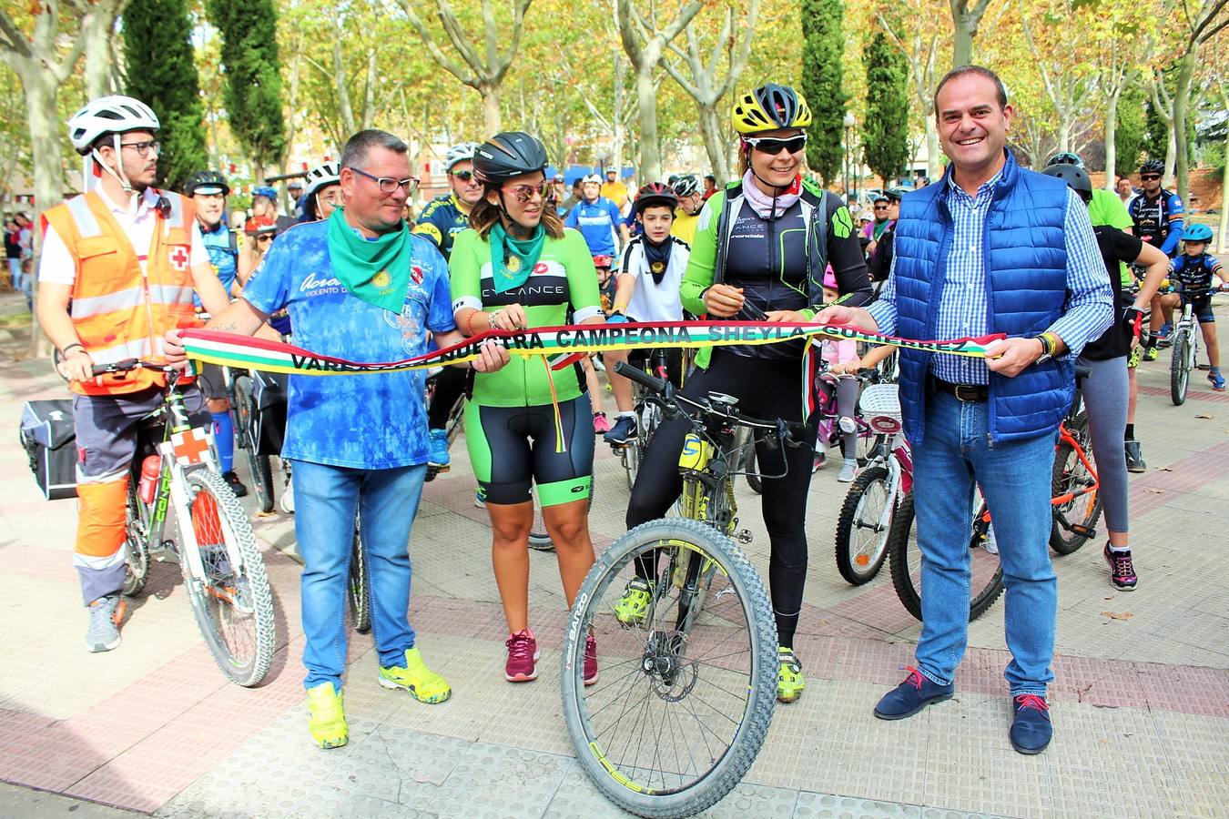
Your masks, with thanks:
[{"label": "pale and pinkish paved ground under the people and bicycles", "polygon": [[[919,627],[886,571],[859,588],[841,580],[832,534],[846,486],[834,468],[820,472],[796,642],[807,690],[777,708],[745,782],[709,814],[1224,817],[1229,398],[1212,393],[1204,375],[1192,377],[1187,403],[1172,406],[1168,355],[1142,370],[1137,429],[1150,469],[1132,476],[1139,589],[1110,586],[1100,541],[1056,557],[1056,739],[1040,756],[1007,742],[1002,602],[970,627],[954,701],[897,723],[871,717],[911,662]],[[351,740],[324,753],[305,731],[300,566],[293,524],[280,514],[254,518],[281,615],[265,685],[222,680],[168,564],[154,566],[146,593],[129,605],[120,648],[84,651],[75,505],[42,501],[16,443],[21,403],[61,394],[44,362],[0,359],[0,565],[10,578],[0,602],[0,642],[10,647],[0,674],[0,780],[163,817],[618,815],[580,772],[564,729],[556,670],[564,604],[551,554],[531,554],[542,677],[503,680],[489,530],[460,442],[452,470],[426,486],[410,550],[412,620],[454,696],[426,706],[381,689],[370,637],[351,635]],[[592,529],[602,549],[622,534],[628,496],[603,446],[597,481]],[[748,556],[766,572],[760,501],[745,485],[739,494],[756,535]],[[0,814],[75,807],[107,815],[0,790]]]}]

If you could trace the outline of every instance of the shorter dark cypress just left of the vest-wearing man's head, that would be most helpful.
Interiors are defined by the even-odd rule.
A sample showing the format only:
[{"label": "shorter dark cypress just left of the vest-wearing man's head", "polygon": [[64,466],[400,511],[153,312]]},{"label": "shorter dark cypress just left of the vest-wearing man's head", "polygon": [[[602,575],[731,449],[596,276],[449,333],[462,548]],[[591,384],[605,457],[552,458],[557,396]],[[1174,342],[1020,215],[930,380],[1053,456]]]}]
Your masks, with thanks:
[{"label": "shorter dark cypress just left of the vest-wearing man's head", "polygon": [[909,156],[908,61],[887,34],[876,32],[862,52],[866,68],[863,156],[885,184],[905,169]]}]

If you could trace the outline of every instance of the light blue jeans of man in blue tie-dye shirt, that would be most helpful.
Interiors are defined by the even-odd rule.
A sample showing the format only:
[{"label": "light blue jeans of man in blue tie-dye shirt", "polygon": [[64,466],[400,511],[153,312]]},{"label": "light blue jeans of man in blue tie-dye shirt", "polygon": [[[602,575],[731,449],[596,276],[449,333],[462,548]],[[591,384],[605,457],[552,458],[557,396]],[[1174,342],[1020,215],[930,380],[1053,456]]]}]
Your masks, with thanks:
[{"label": "light blue jeans of man in blue tie-dye shirt", "polygon": [[359,508],[371,589],[371,634],[380,664],[403,666],[406,650],[414,647],[414,630],[409,627],[409,528],[418,513],[426,467],[365,470],[306,460],[291,463],[295,537],[305,562],[304,686],[332,683],[340,691],[350,550]]}]

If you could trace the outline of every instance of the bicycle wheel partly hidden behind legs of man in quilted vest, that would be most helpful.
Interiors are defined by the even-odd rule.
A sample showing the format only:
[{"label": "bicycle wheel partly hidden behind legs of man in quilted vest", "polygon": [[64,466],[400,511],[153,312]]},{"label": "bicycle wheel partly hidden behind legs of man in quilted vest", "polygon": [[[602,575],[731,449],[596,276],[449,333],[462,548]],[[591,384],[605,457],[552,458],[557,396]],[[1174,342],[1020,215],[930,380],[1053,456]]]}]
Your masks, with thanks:
[{"label": "bicycle wheel partly hidden behind legs of man in quilted vest", "polygon": [[[980,618],[1003,593],[1003,566],[998,554],[991,551],[989,518],[986,505],[973,514],[973,530],[968,539],[968,619]],[[913,526],[913,492],[901,500],[887,535],[887,560],[896,597],[918,620],[922,619],[922,551],[918,549],[917,527]]]}]

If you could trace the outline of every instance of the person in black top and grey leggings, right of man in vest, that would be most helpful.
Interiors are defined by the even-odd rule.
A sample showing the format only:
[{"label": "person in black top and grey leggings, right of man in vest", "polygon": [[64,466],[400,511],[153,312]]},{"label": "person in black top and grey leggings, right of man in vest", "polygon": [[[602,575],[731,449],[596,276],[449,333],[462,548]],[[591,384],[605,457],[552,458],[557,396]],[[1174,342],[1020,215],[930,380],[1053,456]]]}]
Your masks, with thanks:
[{"label": "person in black top and grey leggings, right of man in vest", "polygon": [[[1051,165],[1042,173],[1064,180],[1089,210],[1093,209],[1096,192],[1083,167],[1074,163]],[[1082,388],[1100,479],[1099,496],[1105,503],[1105,528],[1109,529],[1101,554],[1110,565],[1110,582],[1115,588],[1129,592],[1136,587],[1137,578],[1127,538],[1127,462],[1118,458],[1118,440],[1127,426],[1127,357],[1137,346],[1136,327],[1142,320],[1143,308],[1169,273],[1169,259],[1159,248],[1123,232],[1121,227],[1094,223],[1093,233],[1113,287],[1115,322],[1100,338],[1084,345],[1077,363],[1091,370]],[[1121,274],[1123,263],[1148,266],[1139,293],[1134,297],[1129,291],[1134,279],[1123,280]]]}]

